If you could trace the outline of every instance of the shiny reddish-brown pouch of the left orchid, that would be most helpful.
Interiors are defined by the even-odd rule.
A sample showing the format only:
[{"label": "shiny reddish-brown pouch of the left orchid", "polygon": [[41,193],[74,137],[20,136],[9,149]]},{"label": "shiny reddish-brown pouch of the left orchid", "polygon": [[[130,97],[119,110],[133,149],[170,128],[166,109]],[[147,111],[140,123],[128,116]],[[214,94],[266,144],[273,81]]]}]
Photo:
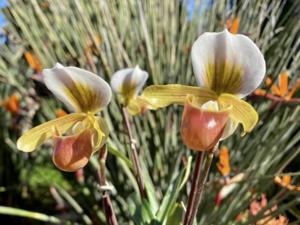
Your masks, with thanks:
[{"label": "shiny reddish-brown pouch of the left orchid", "polygon": [[84,167],[93,153],[92,135],[87,129],[71,136],[55,136],[52,160],[56,167],[66,172]]}]

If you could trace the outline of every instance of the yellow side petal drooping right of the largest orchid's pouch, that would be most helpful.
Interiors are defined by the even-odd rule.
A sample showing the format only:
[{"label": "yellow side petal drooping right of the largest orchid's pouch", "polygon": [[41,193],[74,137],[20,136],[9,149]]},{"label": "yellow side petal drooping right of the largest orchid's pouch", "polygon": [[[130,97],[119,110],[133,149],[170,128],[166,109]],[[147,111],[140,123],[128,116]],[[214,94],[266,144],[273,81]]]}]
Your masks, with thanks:
[{"label": "yellow side petal drooping right of the largest orchid's pouch", "polygon": [[232,106],[230,117],[243,125],[245,132],[250,132],[258,121],[256,110],[244,100],[231,94],[221,94],[218,102],[222,107]]}]

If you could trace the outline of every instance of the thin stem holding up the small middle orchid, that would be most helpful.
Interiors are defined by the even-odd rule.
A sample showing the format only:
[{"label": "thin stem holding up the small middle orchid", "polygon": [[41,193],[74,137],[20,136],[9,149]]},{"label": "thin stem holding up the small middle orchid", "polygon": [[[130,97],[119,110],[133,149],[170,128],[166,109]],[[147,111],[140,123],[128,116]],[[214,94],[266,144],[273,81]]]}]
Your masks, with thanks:
[{"label": "thin stem holding up the small middle orchid", "polygon": [[138,153],[137,153],[136,141],[133,138],[131,125],[129,122],[129,115],[127,113],[126,107],[122,107],[122,115],[123,115],[123,119],[125,121],[127,134],[128,134],[128,138],[130,141],[131,160],[132,160],[133,170],[134,170],[133,172],[134,172],[134,175],[137,180],[137,184],[138,184],[138,187],[140,190],[141,197],[146,198],[145,186],[144,186],[144,182],[143,182],[143,176],[142,176],[139,157],[138,157]]}]

